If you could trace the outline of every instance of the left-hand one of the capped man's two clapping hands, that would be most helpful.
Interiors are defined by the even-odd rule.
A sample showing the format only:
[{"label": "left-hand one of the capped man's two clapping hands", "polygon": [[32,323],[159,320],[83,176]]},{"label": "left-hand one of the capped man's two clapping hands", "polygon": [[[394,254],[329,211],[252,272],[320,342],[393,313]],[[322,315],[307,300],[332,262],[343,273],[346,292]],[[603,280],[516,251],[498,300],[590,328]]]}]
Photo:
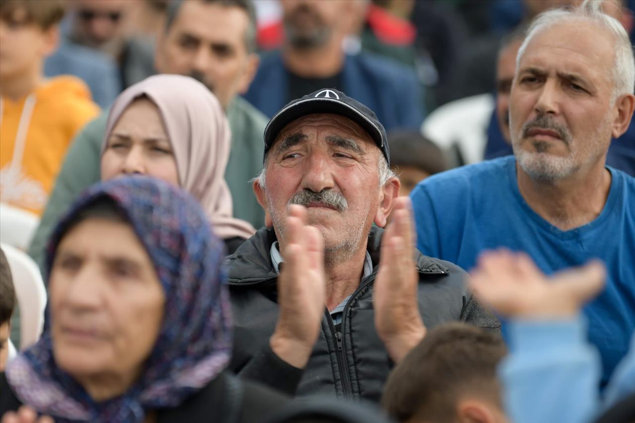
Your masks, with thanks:
[{"label": "left-hand one of the capped man's two clapping hands", "polygon": [[290,206],[281,253],[284,265],[277,280],[280,312],[269,342],[279,358],[304,368],[324,316],[326,276],[322,235],[307,224],[307,210],[302,206]]}]

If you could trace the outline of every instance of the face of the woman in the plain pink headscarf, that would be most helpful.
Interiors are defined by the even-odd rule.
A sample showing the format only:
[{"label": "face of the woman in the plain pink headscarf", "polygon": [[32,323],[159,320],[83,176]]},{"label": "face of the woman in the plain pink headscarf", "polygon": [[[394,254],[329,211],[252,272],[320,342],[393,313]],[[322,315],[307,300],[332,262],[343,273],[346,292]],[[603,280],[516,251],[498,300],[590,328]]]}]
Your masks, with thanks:
[{"label": "face of the woman in the plain pink headscarf", "polygon": [[134,173],[180,185],[168,131],[159,108],[147,98],[135,100],[121,114],[102,155],[102,180]]}]

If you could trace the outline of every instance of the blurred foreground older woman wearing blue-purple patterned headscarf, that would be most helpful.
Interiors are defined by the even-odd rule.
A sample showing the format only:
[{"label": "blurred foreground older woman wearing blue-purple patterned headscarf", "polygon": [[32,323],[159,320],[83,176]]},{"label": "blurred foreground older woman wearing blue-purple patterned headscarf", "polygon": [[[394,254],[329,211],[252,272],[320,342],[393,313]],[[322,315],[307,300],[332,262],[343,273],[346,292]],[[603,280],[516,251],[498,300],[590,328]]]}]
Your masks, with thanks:
[{"label": "blurred foreground older woman wearing blue-purple patterned headscarf", "polygon": [[253,422],[285,400],[224,373],[225,248],[197,201],[147,177],[91,187],[48,248],[48,327],[0,377],[0,415]]}]

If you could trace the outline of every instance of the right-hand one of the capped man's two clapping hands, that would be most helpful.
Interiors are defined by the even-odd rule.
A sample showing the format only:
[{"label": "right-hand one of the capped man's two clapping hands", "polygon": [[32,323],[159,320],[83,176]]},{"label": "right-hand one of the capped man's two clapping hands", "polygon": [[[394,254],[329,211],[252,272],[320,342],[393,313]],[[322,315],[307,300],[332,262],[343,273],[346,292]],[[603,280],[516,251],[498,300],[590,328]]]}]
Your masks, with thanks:
[{"label": "right-hand one of the capped man's two clapping hands", "polygon": [[396,199],[393,220],[382,236],[373,307],[375,328],[398,363],[425,336],[417,303],[418,275],[410,198]]}]

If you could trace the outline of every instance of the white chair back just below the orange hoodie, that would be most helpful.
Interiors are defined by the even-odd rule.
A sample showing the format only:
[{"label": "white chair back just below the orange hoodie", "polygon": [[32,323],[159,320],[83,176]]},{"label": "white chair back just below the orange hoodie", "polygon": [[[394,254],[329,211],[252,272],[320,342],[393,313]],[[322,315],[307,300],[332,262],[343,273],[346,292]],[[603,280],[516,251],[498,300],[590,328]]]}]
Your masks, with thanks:
[{"label": "white chair back just below the orange hoodie", "polygon": [[39,217],[36,214],[7,203],[0,203],[1,243],[26,251],[37,225],[39,225]]}]

